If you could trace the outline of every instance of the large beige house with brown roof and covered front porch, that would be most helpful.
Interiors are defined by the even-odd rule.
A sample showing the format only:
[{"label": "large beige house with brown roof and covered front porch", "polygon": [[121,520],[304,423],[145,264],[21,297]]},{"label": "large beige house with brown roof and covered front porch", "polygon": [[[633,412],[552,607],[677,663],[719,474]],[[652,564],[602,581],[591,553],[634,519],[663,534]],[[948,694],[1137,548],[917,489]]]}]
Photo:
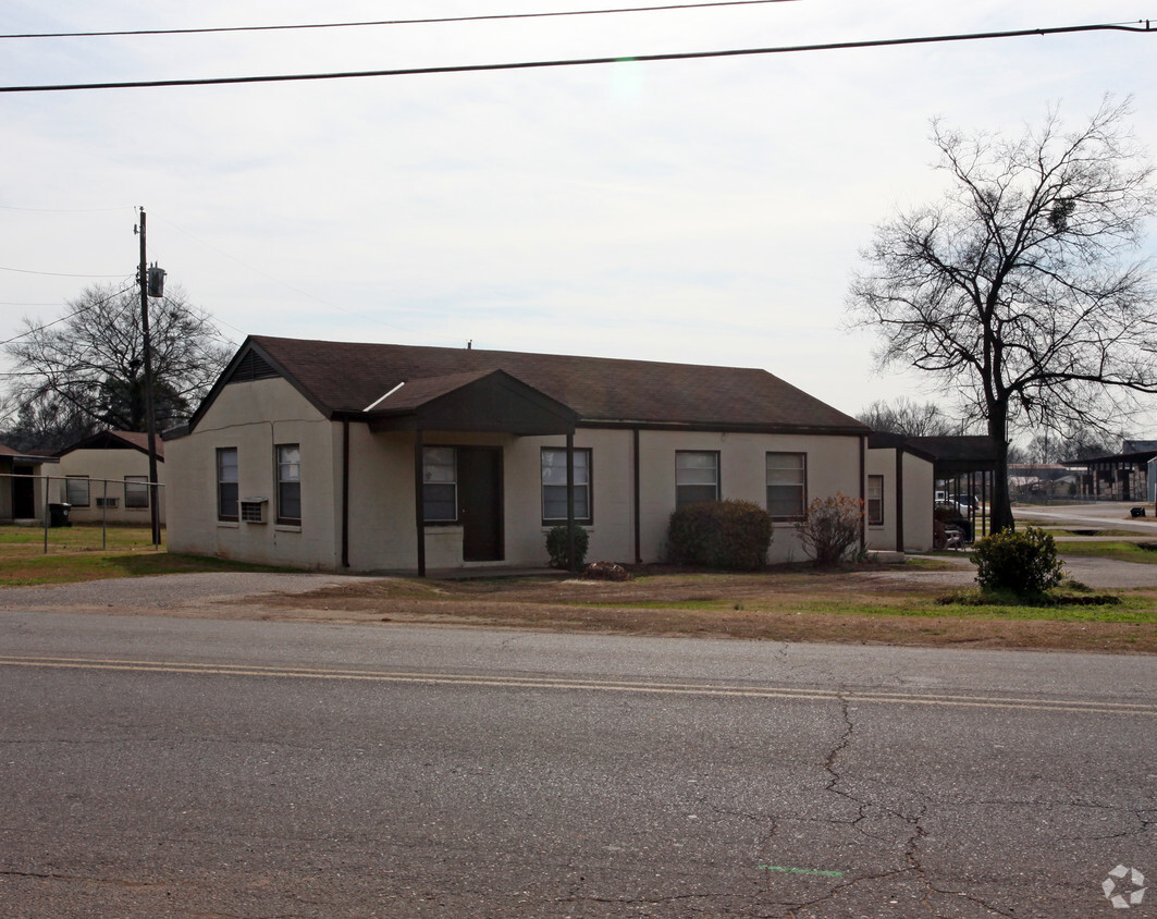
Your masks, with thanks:
[{"label": "large beige house with brown roof and covered front porch", "polygon": [[251,337],[165,435],[169,549],[541,566],[570,499],[588,559],[658,561],[677,506],[745,499],[775,520],[772,560],[803,559],[809,501],[864,498],[868,434],[758,369]]}]

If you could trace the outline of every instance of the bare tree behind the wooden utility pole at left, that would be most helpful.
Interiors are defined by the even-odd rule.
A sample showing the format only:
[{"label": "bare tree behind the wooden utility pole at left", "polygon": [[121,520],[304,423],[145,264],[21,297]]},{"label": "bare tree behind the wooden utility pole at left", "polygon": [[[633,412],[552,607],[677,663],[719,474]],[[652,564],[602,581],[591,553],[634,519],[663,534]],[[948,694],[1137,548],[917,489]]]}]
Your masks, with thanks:
[{"label": "bare tree behind the wooden utility pole at left", "polygon": [[[22,439],[37,433],[67,446],[79,429],[145,431],[145,361],[135,285],[94,286],[47,325],[24,319],[24,334],[5,350],[13,360],[10,425]],[[209,316],[179,287],[149,301],[149,341],[157,429],[185,421],[229,360]],[[46,424],[58,418],[53,428]],[[15,433],[14,431],[14,433]]]}]

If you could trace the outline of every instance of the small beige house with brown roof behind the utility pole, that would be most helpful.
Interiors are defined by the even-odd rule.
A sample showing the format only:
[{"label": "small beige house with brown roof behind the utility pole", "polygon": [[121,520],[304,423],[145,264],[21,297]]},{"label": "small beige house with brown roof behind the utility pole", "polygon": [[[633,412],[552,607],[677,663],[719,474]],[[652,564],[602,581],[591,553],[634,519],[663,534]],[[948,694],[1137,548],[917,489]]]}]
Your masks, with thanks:
[{"label": "small beige house with brown roof behind the utility pole", "polygon": [[[148,435],[102,431],[57,454],[61,500],[72,506],[73,523],[152,523],[148,487]],[[164,443],[156,439],[157,513],[164,523]]]}]

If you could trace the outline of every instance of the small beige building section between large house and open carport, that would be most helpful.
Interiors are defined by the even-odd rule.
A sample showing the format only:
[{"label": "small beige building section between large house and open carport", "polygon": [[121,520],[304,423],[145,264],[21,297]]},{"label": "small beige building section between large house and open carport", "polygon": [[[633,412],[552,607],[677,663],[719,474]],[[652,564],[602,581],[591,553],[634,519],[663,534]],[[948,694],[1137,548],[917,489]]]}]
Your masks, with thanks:
[{"label": "small beige building section between large house and open carport", "polygon": [[868,438],[864,510],[868,547],[890,552],[933,549],[933,488],[936,457],[902,434]]}]

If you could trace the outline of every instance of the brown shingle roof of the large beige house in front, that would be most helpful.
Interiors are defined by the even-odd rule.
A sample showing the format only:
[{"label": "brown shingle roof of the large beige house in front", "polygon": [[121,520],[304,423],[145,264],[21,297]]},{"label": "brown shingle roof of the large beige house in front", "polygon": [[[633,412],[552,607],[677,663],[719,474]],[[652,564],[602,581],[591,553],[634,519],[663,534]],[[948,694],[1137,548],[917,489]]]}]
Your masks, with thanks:
[{"label": "brown shingle roof of the large beige house in front", "polygon": [[370,421],[374,412],[366,410],[399,383],[406,385],[398,395],[410,388],[411,398],[423,388],[445,392],[456,377],[465,385],[495,370],[568,407],[580,425],[868,433],[854,418],[760,369],[268,336],[245,340],[190,427],[231,382],[279,375],[325,417]]}]

